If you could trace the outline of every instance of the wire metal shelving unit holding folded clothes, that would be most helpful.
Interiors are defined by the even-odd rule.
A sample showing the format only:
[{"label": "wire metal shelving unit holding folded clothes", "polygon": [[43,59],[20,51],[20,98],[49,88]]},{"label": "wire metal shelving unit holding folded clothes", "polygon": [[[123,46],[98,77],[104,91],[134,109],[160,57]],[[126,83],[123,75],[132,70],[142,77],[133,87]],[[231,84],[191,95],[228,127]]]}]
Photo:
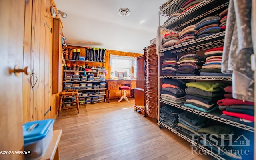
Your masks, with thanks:
[{"label": "wire metal shelving unit holding folded clothes", "polygon": [[[184,3],[186,3],[188,0],[173,0],[170,2],[167,6],[160,9],[160,16],[165,16],[169,18],[172,14],[180,13],[182,12],[182,6]],[[167,32],[180,32],[187,26],[190,26],[192,24],[196,24],[197,22],[200,22],[203,18],[206,18],[208,16],[218,16],[218,14],[228,8],[229,0],[204,0],[200,4],[196,5],[195,7],[187,10],[186,12],[180,14],[176,18],[172,19],[169,22],[166,22],[161,26],[161,30],[167,31]],[[159,16],[159,23],[160,23],[160,16]],[[210,36],[206,36],[203,38],[194,39],[189,42],[184,42],[178,45],[170,46],[168,48],[164,48],[160,50],[159,52],[162,53],[159,55],[164,54],[172,54],[177,55],[182,53],[189,53],[189,52],[196,52],[201,50],[208,50],[211,48],[216,48],[220,46],[224,46],[224,37],[225,37],[225,31],[219,32]],[[211,76],[162,76],[161,75],[161,56],[158,58],[158,64],[159,64],[159,70],[158,70],[158,82],[159,85],[162,85],[161,82],[164,78],[172,78],[172,79],[182,79],[182,80],[205,80],[205,81],[222,81],[231,83],[232,77],[229,76],[223,76],[223,77],[211,77]],[[188,138],[187,136],[181,134],[180,132],[176,131],[175,128],[172,128],[171,126],[163,123],[160,121],[160,107],[161,104],[168,104],[170,106],[180,108],[184,111],[192,112],[194,114],[198,114],[200,116],[204,116],[206,118],[216,120],[218,122],[222,122],[224,124],[228,124],[231,126],[235,126],[237,128],[241,128],[243,130],[247,130],[249,132],[254,133],[254,127],[247,126],[244,124],[240,124],[238,122],[233,122],[224,118],[220,118],[220,115],[222,112],[220,110],[215,110],[213,112],[202,112],[193,108],[189,108],[187,106],[184,106],[183,103],[176,104],[172,102],[168,102],[166,100],[163,100],[160,98],[160,90],[161,87],[158,87],[158,125],[160,128],[164,126],[165,128],[168,128],[170,131],[174,132],[178,136],[182,137],[183,139],[187,140],[191,144],[198,146],[201,150],[203,150],[206,153],[209,153],[211,156],[218,160],[225,160],[223,156],[220,156],[218,154],[215,154],[214,152],[211,152],[207,148],[204,148],[204,146],[201,146],[200,144],[194,142],[192,139]]]}]

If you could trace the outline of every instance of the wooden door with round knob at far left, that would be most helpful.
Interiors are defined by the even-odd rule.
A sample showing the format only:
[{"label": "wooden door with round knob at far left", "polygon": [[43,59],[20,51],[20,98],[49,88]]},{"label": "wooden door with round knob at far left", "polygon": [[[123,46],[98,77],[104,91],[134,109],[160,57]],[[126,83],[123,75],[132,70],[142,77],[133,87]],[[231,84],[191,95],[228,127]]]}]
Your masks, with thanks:
[{"label": "wooden door with round knob at far left", "polygon": [[[9,74],[15,65],[23,68],[25,0],[0,1],[0,150],[23,150],[22,77]],[[0,154],[1,160],[21,160],[22,155]]]}]

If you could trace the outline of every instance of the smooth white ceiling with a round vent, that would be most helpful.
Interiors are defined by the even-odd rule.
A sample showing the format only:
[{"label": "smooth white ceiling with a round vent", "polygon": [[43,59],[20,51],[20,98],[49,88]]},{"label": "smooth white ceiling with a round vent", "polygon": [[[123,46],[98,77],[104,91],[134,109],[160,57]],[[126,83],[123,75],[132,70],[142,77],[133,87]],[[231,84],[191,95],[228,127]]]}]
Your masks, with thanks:
[{"label": "smooth white ceiling with a round vent", "polygon": [[[159,6],[167,0],[54,0],[65,12],[63,34],[67,44],[143,53],[156,38]],[[129,8],[129,16],[119,16]],[[60,14],[59,14],[60,15]],[[166,20],[161,16],[161,23]],[[99,45],[96,45],[99,44]]]}]

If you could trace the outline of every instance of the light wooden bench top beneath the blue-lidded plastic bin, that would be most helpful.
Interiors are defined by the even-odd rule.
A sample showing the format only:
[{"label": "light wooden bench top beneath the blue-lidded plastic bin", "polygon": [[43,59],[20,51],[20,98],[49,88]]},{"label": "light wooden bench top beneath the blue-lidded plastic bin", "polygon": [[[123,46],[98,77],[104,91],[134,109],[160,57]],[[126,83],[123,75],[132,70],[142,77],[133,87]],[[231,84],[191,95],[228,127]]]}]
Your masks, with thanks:
[{"label": "light wooden bench top beneath the blue-lidded plastic bin", "polygon": [[62,135],[62,130],[54,130],[52,140],[43,156],[40,160],[59,160],[59,142]]}]

